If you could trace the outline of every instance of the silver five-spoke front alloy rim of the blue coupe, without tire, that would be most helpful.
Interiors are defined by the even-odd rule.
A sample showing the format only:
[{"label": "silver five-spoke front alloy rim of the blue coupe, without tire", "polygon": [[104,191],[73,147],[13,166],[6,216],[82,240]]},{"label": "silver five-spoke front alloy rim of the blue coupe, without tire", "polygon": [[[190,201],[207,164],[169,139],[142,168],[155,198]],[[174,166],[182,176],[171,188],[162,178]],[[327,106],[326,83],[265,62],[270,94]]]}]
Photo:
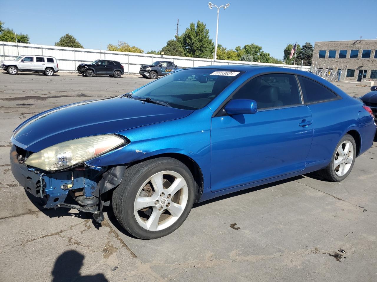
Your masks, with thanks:
[{"label": "silver five-spoke front alloy rim of the blue coupe, without tire", "polygon": [[144,229],[158,231],[175,223],[189,199],[189,189],[181,174],[161,171],[153,174],[139,188],[133,211]]}]

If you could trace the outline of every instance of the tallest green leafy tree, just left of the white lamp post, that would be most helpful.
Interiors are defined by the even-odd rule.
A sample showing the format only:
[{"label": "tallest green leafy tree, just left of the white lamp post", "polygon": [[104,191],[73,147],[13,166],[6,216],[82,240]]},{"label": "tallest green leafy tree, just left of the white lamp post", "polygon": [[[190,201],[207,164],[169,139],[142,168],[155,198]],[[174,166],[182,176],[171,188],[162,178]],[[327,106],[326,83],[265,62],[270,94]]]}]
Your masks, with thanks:
[{"label": "tallest green leafy tree, just left of the white lamp post", "polygon": [[201,21],[190,23],[184,33],[178,38],[181,43],[185,55],[195,58],[213,58],[215,52],[215,44],[209,36],[209,30],[205,28],[205,24]]}]

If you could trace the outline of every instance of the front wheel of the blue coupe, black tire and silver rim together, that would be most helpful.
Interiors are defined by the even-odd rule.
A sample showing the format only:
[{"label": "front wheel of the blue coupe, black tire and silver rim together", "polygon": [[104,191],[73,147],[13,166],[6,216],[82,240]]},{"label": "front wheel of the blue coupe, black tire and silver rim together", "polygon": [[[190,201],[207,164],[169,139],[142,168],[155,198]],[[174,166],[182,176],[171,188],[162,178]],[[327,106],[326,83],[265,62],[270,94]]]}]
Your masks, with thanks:
[{"label": "front wheel of the blue coupe, black tire and silver rim together", "polygon": [[194,203],[194,179],[182,162],[158,158],[127,168],[112,205],[119,223],[133,236],[155,239],[175,231]]}]

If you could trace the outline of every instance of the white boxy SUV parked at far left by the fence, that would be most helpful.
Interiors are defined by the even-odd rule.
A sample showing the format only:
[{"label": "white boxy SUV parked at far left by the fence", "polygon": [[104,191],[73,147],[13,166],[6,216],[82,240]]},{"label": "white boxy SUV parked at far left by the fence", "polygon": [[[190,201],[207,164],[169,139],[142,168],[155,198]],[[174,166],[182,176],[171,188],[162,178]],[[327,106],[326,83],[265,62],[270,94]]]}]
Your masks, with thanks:
[{"label": "white boxy SUV parked at far left by the fence", "polygon": [[53,76],[59,71],[59,65],[54,57],[39,55],[23,55],[14,60],[0,61],[1,68],[9,74],[17,74],[18,71],[44,73]]}]

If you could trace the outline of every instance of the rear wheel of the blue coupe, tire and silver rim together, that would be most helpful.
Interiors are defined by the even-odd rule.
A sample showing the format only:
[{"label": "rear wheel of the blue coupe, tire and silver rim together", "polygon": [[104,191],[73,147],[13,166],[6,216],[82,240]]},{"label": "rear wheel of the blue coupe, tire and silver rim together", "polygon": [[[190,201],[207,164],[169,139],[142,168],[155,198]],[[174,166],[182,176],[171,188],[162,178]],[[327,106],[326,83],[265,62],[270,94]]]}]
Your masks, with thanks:
[{"label": "rear wheel of the blue coupe, tire and silver rim together", "polygon": [[325,169],[319,171],[319,175],[332,182],[344,180],[351,173],[356,150],[355,139],[349,134],[344,135],[336,146],[331,162]]}]

